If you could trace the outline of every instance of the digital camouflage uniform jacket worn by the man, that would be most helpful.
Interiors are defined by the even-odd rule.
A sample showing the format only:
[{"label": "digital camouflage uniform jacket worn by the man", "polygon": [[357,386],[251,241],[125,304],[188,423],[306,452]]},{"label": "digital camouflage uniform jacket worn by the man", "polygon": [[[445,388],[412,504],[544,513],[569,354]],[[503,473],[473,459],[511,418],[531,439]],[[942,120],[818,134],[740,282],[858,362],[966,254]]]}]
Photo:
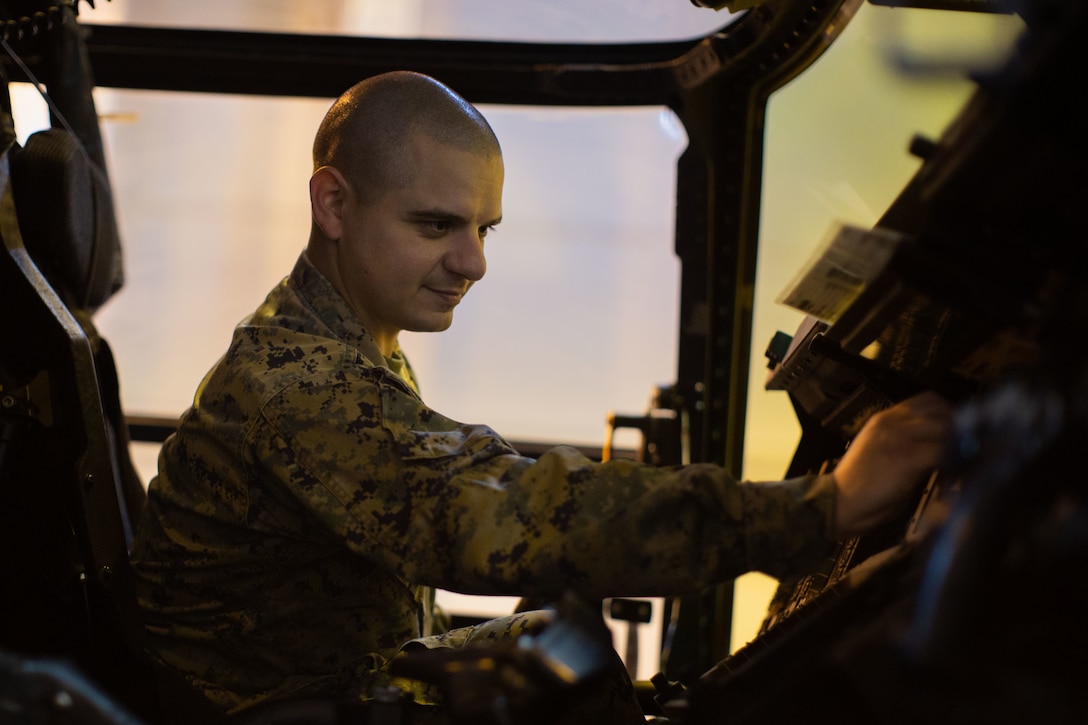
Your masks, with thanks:
[{"label": "digital camouflage uniform jacket worn by the man", "polygon": [[540,459],[429,408],[305,255],[200,384],[133,548],[152,649],[237,710],[364,696],[432,587],[591,598],[772,576],[826,541],[827,477]]}]

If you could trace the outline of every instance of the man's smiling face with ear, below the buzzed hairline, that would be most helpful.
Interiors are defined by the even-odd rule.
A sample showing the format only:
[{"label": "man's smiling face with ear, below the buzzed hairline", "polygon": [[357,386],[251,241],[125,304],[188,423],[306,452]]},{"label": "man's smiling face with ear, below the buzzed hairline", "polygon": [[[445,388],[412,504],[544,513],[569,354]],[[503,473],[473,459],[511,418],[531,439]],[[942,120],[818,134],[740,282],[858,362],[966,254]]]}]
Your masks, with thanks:
[{"label": "man's smiling face with ear, below the buzzed hairline", "polygon": [[401,330],[437,332],[486,270],[503,216],[503,159],[417,134],[407,183],[361,202],[348,194],[337,267],[344,293],[386,355]]}]

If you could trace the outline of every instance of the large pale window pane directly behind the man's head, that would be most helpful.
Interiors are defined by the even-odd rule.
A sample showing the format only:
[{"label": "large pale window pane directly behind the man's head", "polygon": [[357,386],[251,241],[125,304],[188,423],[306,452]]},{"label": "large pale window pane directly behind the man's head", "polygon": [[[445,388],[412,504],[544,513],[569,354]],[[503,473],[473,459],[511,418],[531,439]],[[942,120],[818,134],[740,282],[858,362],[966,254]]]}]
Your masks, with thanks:
[{"label": "large pale window pane directly behind the man's head", "polygon": [[[98,103],[127,273],[98,322],[126,408],[175,416],[306,245],[329,101],[99,89]],[[404,346],[445,415],[599,445],[609,410],[643,413],[675,378],[683,132],[664,109],[483,111],[507,167],[487,278],[449,332]]]}]

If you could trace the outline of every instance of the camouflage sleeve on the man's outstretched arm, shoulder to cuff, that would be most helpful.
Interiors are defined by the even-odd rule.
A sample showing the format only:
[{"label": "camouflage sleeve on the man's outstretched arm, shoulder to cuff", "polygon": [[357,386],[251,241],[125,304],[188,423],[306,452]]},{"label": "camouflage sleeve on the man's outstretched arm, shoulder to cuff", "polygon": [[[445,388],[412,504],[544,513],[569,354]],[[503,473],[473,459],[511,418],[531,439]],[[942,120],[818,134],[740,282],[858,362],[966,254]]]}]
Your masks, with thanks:
[{"label": "camouflage sleeve on the man's outstretched arm, shoulder to cuff", "polygon": [[257,457],[356,553],[480,594],[664,595],[826,552],[830,477],[741,483],[718,466],[518,455],[398,385],[330,382],[265,406]]}]

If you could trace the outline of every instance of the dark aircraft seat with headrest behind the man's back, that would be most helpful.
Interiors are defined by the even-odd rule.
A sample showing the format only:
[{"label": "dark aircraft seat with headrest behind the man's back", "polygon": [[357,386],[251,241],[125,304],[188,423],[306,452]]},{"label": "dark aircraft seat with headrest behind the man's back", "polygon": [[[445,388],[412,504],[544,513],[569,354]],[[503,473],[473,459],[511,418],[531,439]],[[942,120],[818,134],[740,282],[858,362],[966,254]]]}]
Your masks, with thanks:
[{"label": "dark aircraft seat with headrest behind the man's back", "polygon": [[91,321],[121,281],[108,181],[67,131],[21,147],[4,115],[0,649],[71,661],[147,723],[215,722],[141,644],[128,544],[146,494],[113,355]]}]

